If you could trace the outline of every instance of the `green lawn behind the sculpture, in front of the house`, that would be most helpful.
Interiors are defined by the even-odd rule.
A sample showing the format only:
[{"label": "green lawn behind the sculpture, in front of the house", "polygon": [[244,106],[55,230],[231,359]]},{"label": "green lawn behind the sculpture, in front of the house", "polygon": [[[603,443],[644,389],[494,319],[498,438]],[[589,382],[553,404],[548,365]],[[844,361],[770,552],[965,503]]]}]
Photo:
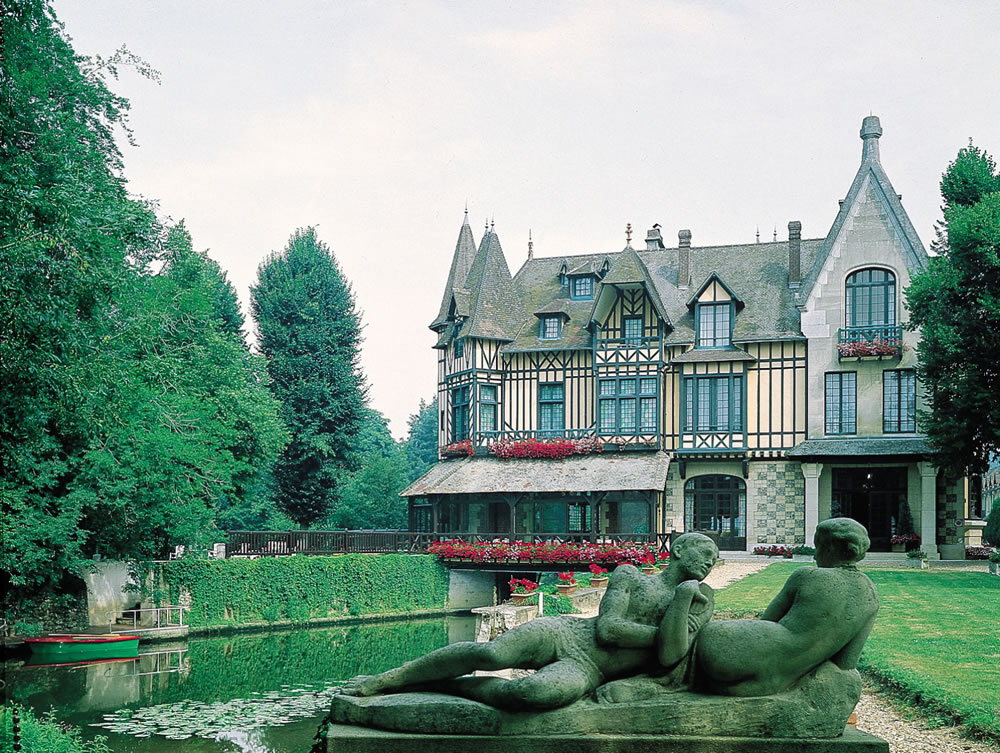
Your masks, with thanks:
[{"label": "green lawn behind the sculpture, in front of the house", "polygon": [[[716,594],[723,619],[756,617],[797,567],[778,562]],[[1000,741],[1000,578],[862,568],[882,606],[861,670],[915,705]]]}]

